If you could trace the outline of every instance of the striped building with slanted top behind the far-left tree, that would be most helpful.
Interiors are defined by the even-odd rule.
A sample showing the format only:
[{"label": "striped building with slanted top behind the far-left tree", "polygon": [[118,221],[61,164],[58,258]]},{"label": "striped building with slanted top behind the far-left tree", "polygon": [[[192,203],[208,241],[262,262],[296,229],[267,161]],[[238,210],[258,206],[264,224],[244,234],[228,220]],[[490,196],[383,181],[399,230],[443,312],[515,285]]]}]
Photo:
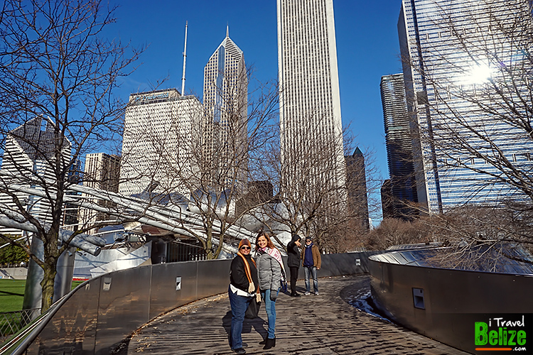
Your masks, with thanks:
[{"label": "striped building with slanted top behind the far-left tree", "polygon": [[[61,156],[60,165],[68,170],[70,163],[70,143],[65,139],[65,147]],[[48,193],[53,194],[55,175],[50,162],[55,165],[55,131],[54,125],[48,119],[35,117],[25,124],[13,129],[6,136],[6,148],[1,164],[1,170],[9,173],[11,177],[2,175],[1,180],[6,185],[16,184],[23,187],[33,187],[36,190],[45,191],[37,182],[41,179],[48,180]],[[12,192],[23,207],[33,217],[38,218],[42,223],[51,223],[49,200],[36,195],[29,195],[26,192]],[[16,207],[14,197],[5,193],[0,194],[0,215],[9,218],[20,214],[20,209]],[[0,228],[0,233],[21,235],[18,229]]]}]

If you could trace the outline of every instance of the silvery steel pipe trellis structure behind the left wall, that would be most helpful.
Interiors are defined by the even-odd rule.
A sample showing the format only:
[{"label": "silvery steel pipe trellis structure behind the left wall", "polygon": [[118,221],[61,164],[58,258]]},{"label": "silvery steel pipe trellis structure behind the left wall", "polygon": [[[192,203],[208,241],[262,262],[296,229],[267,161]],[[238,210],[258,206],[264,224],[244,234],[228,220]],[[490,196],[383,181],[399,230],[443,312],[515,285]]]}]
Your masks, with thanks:
[{"label": "silvery steel pipe trellis structure behind the left wall", "polygon": [[[8,178],[16,178],[11,173],[2,172],[0,175]],[[36,182],[37,184],[38,182]],[[3,184],[3,185],[1,185]],[[9,184],[0,182],[0,187],[10,192],[23,192],[27,195],[35,196],[43,199],[53,199],[55,196],[46,195],[45,191],[35,187],[28,187],[27,185]],[[64,195],[65,204],[73,204],[77,207],[92,209],[96,212],[104,212],[111,218],[116,218],[115,224],[122,224],[121,221],[135,221],[136,225],[144,224],[146,226],[153,226],[157,229],[163,229],[173,234],[179,234],[192,239],[207,240],[207,235],[203,231],[203,221],[200,214],[190,212],[187,204],[181,201],[181,204],[167,203],[161,204],[161,199],[144,200],[139,197],[123,196],[115,192],[99,190],[92,187],[82,185],[71,185],[68,187]],[[84,194],[82,197],[80,194]],[[90,198],[87,198],[87,195]],[[115,207],[105,207],[90,200],[105,200],[112,202]],[[20,229],[26,231],[28,234],[36,233],[37,227],[30,222],[27,222],[22,214],[14,212],[7,207],[0,207],[0,212],[4,216],[0,217],[0,226]],[[110,223],[112,221],[109,221]],[[217,235],[222,234],[222,226],[219,220],[212,221],[212,244],[220,245],[220,239]],[[46,224],[45,224],[46,227]],[[127,227],[125,226],[125,229]],[[229,226],[223,231],[224,236],[230,239],[250,239],[255,240],[255,233],[249,231],[242,226]],[[63,243],[68,244],[68,249],[58,259],[57,270],[58,275],[55,278],[54,298],[53,302],[59,300],[63,295],[70,292],[70,285],[72,282],[72,272],[74,268],[74,257],[72,254],[76,248],[98,256],[102,247],[106,245],[104,238],[83,233],[76,233],[68,229],[60,229],[59,239]],[[38,258],[43,259],[44,246],[43,241],[33,238],[31,241],[31,251]],[[222,242],[222,251],[228,255],[237,253],[237,248],[230,243]],[[26,308],[41,307],[41,280],[43,279],[43,271],[33,261],[30,262],[28,269],[28,278],[25,292],[24,306]]]}]

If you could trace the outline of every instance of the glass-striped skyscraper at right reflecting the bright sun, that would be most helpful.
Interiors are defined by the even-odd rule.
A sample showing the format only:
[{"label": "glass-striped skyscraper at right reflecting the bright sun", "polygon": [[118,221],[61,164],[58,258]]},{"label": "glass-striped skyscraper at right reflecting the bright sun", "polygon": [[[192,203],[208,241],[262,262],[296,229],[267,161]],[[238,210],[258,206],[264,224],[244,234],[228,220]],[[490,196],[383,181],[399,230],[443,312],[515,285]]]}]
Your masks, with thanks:
[{"label": "glass-striped skyscraper at right reflecting the bright sun", "polygon": [[525,0],[402,1],[417,195],[429,213],[524,200],[531,29]]}]

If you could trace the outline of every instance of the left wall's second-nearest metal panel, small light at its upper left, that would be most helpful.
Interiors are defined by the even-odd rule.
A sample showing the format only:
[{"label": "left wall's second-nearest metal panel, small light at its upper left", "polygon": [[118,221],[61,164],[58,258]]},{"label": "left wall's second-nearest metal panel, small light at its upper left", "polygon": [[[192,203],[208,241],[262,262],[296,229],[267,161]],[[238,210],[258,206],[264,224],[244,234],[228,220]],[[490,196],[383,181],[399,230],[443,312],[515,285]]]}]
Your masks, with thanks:
[{"label": "left wall's second-nearest metal panel, small light at its upper left", "polygon": [[95,354],[109,354],[148,322],[151,269],[151,265],[141,266],[100,276]]}]

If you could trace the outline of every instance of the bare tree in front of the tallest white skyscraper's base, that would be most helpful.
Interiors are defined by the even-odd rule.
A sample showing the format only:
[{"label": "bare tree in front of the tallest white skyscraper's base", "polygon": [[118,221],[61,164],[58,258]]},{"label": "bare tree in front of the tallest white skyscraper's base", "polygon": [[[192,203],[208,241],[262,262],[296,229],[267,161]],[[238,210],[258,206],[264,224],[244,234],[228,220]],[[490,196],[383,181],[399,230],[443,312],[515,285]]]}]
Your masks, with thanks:
[{"label": "bare tree in front of the tallest white skyscraper's base", "polygon": [[[321,136],[320,122],[319,117],[302,119],[300,129],[309,136]],[[343,184],[338,185],[328,177],[337,170],[338,148],[343,146],[343,136],[321,136],[313,143],[288,147],[283,153],[279,134],[274,137],[276,139],[263,147],[263,164],[256,172],[257,180],[272,183],[273,197],[254,211],[255,217],[274,234],[280,245],[284,245],[284,241],[279,239],[279,234],[285,232],[313,236],[322,251],[354,249],[360,231],[368,228],[365,166],[355,164],[351,170],[343,168],[350,176],[343,176]],[[351,158],[355,147],[351,140],[345,141]]]}]

